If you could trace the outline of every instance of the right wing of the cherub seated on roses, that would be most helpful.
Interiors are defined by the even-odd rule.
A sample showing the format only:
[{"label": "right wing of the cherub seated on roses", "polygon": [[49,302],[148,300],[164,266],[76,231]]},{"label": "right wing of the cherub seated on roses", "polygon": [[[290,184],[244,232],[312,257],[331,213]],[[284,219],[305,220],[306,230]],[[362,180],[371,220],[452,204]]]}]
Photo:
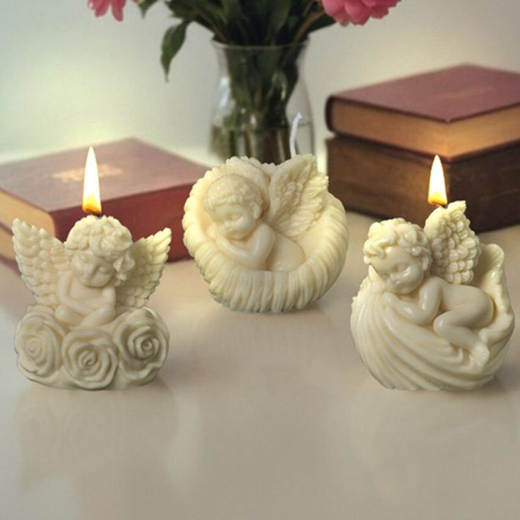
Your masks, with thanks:
[{"label": "right wing of the cherub seated on roses", "polygon": [[141,238],[134,244],[136,266],[129,278],[117,288],[117,305],[143,307],[159,284],[162,269],[170,251],[172,230],[162,231]]}]

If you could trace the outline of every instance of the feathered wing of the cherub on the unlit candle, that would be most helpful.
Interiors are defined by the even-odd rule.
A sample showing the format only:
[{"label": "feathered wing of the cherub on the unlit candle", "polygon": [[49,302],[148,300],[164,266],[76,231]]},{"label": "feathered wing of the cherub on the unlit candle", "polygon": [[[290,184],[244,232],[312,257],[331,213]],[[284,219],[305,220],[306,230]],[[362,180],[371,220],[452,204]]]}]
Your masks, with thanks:
[{"label": "feathered wing of the cherub on the unlit candle", "polygon": [[314,155],[296,155],[283,162],[271,176],[266,222],[286,237],[301,235],[321,215],[328,184]]}]

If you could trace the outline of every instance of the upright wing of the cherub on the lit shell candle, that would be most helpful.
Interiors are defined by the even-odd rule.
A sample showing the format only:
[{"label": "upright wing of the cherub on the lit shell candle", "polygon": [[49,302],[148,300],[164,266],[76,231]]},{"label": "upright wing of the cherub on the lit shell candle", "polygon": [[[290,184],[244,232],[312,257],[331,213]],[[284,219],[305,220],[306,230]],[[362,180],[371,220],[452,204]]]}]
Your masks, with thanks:
[{"label": "upright wing of the cherub on the lit shell candle", "polygon": [[466,202],[452,202],[434,211],[425,222],[433,256],[430,272],[449,283],[470,283],[482,253],[465,211]]}]

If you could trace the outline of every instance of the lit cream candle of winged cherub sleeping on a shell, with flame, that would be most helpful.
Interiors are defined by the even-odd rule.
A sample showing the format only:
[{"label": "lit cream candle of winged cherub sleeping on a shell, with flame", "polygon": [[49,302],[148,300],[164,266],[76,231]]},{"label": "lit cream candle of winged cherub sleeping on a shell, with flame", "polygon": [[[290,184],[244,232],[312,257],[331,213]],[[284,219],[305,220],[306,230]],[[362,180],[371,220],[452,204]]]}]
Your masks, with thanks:
[{"label": "lit cream candle of winged cherub sleeping on a shell, with flame", "polygon": [[[429,201],[447,203],[438,157]],[[387,388],[473,389],[504,359],[514,329],[504,252],[480,244],[465,211],[457,201],[424,228],[403,218],[370,228],[350,326],[362,362]]]}]

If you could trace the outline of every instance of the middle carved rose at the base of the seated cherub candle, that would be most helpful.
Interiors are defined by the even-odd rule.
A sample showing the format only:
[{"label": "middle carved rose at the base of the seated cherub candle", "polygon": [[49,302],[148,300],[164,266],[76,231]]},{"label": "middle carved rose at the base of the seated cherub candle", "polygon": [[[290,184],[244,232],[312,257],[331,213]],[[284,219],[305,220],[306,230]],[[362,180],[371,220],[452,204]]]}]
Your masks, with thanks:
[{"label": "middle carved rose at the base of the seated cherub candle", "polygon": [[110,336],[98,329],[76,329],[61,347],[64,366],[74,384],[88,390],[108,386],[117,370],[117,354]]}]

